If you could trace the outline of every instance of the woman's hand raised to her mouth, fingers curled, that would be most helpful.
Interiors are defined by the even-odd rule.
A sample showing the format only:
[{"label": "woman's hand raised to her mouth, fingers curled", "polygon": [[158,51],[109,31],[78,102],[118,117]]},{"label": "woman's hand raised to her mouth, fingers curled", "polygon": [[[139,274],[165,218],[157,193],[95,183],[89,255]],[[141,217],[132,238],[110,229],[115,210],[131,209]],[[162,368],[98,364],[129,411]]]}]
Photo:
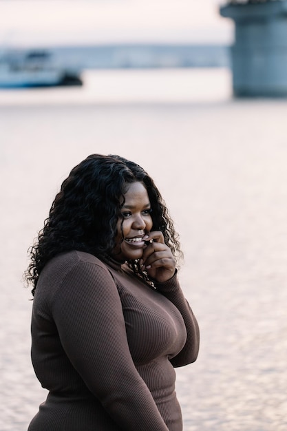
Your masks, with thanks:
[{"label": "woman's hand raised to her mouth, fingers curled", "polygon": [[157,282],[167,282],[176,271],[176,260],[169,246],[164,244],[162,232],[149,232],[144,239],[149,244],[142,253],[142,271],[147,271]]}]

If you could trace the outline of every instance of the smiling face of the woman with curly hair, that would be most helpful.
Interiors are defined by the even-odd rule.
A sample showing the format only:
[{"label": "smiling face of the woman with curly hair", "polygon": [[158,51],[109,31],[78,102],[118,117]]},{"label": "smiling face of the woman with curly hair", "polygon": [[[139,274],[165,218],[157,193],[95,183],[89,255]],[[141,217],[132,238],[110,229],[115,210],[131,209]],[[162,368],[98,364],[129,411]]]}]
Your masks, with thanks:
[{"label": "smiling face of the woman with curly hair", "polygon": [[118,233],[113,253],[113,257],[120,262],[142,257],[145,246],[142,238],[153,226],[151,204],[142,182],[131,182],[124,196],[125,203],[121,209],[122,218],[117,224]]}]

